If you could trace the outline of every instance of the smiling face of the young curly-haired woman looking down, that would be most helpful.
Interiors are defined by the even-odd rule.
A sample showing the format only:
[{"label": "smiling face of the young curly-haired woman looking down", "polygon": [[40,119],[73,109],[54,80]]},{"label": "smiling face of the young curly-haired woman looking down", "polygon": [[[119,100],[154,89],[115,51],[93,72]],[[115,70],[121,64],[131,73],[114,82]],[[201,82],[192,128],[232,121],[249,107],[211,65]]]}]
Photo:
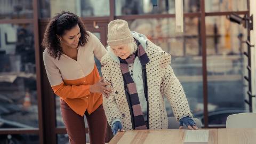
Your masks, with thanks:
[{"label": "smiling face of the young curly-haired woman looking down", "polygon": [[65,44],[68,47],[76,48],[81,37],[80,28],[76,25],[70,30],[66,30],[65,35],[61,36],[61,44]]}]

